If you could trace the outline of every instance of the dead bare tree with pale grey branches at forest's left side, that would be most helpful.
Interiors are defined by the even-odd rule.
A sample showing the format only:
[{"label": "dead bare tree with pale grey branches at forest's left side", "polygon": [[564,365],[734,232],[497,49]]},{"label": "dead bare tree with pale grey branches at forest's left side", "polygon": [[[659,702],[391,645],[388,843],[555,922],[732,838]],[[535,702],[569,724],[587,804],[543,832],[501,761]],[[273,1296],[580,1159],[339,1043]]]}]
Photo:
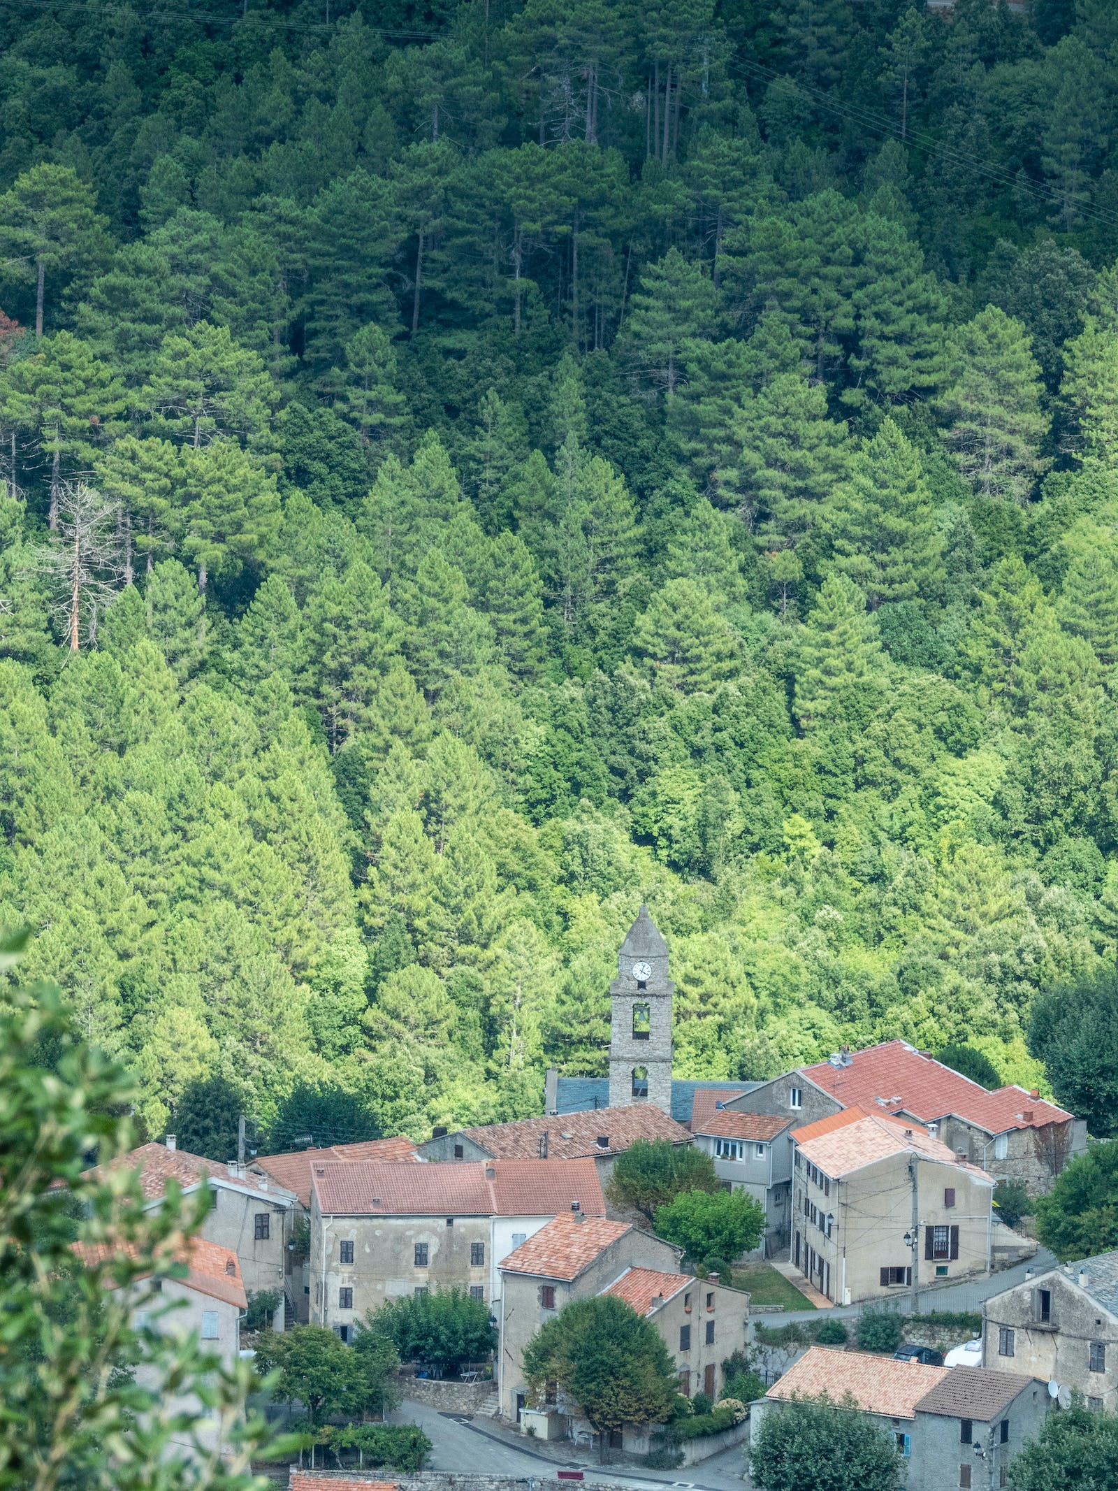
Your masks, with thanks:
[{"label": "dead bare tree with pale grey branches at forest's left side", "polygon": [[85,482],[64,482],[58,491],[58,528],[39,550],[36,570],[46,576],[52,607],[76,653],[85,631],[86,646],[97,640],[97,619],[116,593],[121,546],[116,504]]}]

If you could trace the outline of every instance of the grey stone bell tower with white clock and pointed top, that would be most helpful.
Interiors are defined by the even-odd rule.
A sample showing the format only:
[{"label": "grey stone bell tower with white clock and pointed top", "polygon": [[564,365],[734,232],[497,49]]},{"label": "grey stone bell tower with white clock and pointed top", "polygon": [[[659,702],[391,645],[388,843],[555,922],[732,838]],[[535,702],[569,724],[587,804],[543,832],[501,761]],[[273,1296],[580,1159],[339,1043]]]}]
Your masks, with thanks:
[{"label": "grey stone bell tower with white clock and pointed top", "polygon": [[656,1103],[672,1111],[672,994],[668,944],[648,908],[629,927],[610,984],[610,1106]]}]

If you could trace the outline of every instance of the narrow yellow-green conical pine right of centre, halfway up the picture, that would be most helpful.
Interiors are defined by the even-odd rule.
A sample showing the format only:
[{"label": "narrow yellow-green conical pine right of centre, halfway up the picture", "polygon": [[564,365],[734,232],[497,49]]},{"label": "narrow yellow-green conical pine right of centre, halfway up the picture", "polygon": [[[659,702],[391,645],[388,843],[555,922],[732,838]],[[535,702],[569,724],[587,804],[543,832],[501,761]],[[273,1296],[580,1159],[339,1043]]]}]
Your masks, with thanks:
[{"label": "narrow yellow-green conical pine right of centre, halfway up the picture", "polygon": [[881,643],[866,598],[845,576],[829,576],[808,616],[796,663],[796,717],[803,729],[857,719],[879,687]]}]

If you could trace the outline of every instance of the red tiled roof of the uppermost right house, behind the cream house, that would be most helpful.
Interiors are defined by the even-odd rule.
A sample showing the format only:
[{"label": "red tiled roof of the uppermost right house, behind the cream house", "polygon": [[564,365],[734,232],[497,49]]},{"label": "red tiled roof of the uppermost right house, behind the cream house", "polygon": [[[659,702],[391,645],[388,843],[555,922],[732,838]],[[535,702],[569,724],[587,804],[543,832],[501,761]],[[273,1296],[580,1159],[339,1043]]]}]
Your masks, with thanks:
[{"label": "red tiled roof of the uppermost right house, behind the cream house", "polygon": [[988,1093],[905,1041],[885,1041],[856,1051],[850,1066],[835,1068],[830,1062],[820,1062],[802,1071],[845,1106],[857,1103],[885,1112],[903,1109],[921,1123],[957,1114],[987,1133],[1006,1133],[1009,1129],[1042,1129],[1072,1117],[1054,1103],[1030,1097],[1024,1087],[999,1087]]}]

